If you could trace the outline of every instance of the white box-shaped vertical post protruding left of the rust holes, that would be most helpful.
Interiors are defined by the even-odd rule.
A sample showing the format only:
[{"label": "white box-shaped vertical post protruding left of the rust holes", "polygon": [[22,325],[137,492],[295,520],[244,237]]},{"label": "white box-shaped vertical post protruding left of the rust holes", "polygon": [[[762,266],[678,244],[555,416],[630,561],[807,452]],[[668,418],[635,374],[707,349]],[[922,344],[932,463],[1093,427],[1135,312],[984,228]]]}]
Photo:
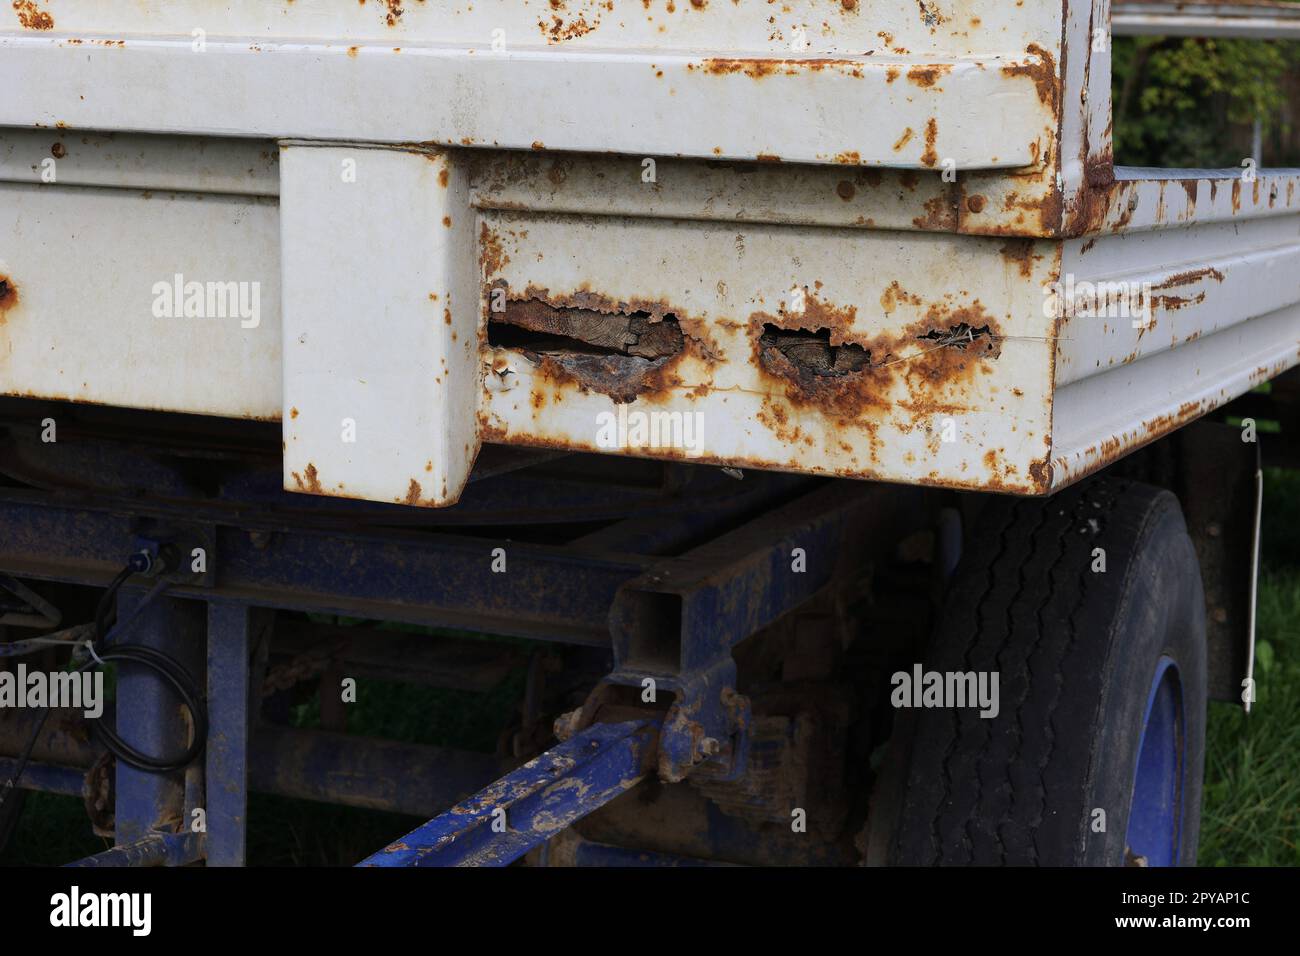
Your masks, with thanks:
[{"label": "white box-shaped vertical post protruding left of the rust holes", "polygon": [[467,179],[443,152],[281,155],[285,488],[451,505],[478,454]]}]

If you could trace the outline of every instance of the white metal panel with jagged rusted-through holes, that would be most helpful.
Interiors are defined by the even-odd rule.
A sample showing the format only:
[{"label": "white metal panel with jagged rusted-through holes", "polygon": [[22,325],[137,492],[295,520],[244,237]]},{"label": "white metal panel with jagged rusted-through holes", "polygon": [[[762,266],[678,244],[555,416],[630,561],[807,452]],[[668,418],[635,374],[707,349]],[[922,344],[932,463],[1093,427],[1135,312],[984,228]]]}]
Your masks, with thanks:
[{"label": "white metal panel with jagged rusted-through holes", "polygon": [[1045,490],[1054,248],[484,212],[482,433]]}]

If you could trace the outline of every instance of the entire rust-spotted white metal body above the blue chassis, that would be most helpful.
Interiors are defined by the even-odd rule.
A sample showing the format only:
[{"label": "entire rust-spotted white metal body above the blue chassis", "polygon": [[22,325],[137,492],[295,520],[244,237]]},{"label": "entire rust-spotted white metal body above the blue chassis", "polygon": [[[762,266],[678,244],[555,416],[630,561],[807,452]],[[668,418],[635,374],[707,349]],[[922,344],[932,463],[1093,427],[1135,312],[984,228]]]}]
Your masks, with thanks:
[{"label": "entire rust-spotted white metal body above the blue chassis", "polygon": [[1106,0],[20,8],[0,390],[280,419],[291,490],[448,505],[488,441],[1046,493],[1300,362],[1300,173],[1113,169]]}]

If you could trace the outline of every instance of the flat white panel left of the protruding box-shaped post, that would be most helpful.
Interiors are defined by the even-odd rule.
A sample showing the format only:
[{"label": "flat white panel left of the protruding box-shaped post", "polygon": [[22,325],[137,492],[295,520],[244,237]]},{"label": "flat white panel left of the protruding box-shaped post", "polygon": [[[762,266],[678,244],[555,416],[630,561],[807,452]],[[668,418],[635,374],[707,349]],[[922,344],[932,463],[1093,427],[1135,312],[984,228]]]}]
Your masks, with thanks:
[{"label": "flat white panel left of the protruding box-shaped post", "polygon": [[0,393],[280,416],[273,199],[0,182]]}]

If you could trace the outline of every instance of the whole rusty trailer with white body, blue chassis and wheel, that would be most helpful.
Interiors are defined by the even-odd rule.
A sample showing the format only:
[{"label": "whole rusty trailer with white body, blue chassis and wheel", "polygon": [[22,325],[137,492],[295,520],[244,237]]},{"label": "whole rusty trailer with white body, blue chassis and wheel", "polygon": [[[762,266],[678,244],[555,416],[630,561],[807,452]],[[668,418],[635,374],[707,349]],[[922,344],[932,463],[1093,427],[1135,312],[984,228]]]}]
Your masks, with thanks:
[{"label": "whole rusty trailer with white body, blue chassis and wheel", "polygon": [[[429,748],[350,756],[377,779],[359,791],[273,769],[322,745],[261,715],[285,648],[296,683],[377,669],[360,631],[326,640],[294,617],[317,611],[612,656],[560,708],[543,674],[577,665],[534,654],[532,710],[484,791],[497,796],[370,862],[610,864],[632,847],[732,862],[1195,858],[1206,688],[1253,700],[1257,446],[1222,423],[1300,364],[1300,170],[1117,166],[1112,23],[1291,36],[1300,18],[1290,4],[1112,5],[13,3],[10,623],[35,617],[47,639],[101,652],[207,628],[205,659],[182,671],[213,730],[185,765],[203,765],[207,804],[178,787],[182,765],[151,769],[121,739],[65,747],[64,724],[0,726],[0,770],[64,792],[112,778],[116,823],[101,808],[96,826],[114,861],[213,865],[243,862],[250,782],[434,816],[495,775],[469,758],[451,773]],[[1287,381],[1243,401],[1287,419]],[[1183,429],[1205,416],[1218,424]],[[521,527],[516,548],[506,528]],[[335,546],[351,558],[317,553]],[[926,615],[850,611],[879,592],[881,562],[928,568],[948,594],[923,654]],[[1139,580],[1152,609],[1191,617],[1121,619]],[[105,587],[116,627],[110,611],[91,631],[39,611]],[[182,622],[195,601],[205,622]],[[265,622],[276,636],[260,644]],[[1084,628],[1102,641],[1095,674],[1069,689],[1027,676],[1035,656],[1066,667]],[[433,653],[404,667],[411,646],[381,636],[389,676]],[[1121,639],[1131,687],[1106,663]],[[906,693],[890,705],[881,675],[922,658],[1000,672],[1022,728],[1056,727],[1071,695],[1136,710],[1089,724],[1105,754],[1032,735],[1005,753],[996,717],[941,726],[926,708],[913,719]],[[774,674],[781,693],[760,689]],[[818,682],[842,701],[807,696]],[[161,714],[156,675],[130,687],[140,702],[120,705],[120,726],[195,744]],[[546,749],[538,727],[562,709]],[[1143,757],[1148,730],[1182,749]],[[23,756],[29,731],[39,747]],[[889,748],[884,770],[845,777],[853,734]],[[1060,770],[1044,786],[1063,803],[1041,799],[1069,832],[961,792],[963,770],[1014,775],[1031,758]],[[430,767],[436,796],[400,795],[385,774],[403,765]],[[1109,783],[1088,790],[1102,765]],[[554,782],[582,774],[578,800]],[[659,830],[619,810],[647,775],[668,784],[676,822]],[[230,783],[221,808],[214,782]],[[203,834],[177,822],[196,800]],[[1124,825],[1089,838],[1084,800]],[[785,832],[811,805],[818,839]],[[498,832],[502,808],[532,829]]]}]

